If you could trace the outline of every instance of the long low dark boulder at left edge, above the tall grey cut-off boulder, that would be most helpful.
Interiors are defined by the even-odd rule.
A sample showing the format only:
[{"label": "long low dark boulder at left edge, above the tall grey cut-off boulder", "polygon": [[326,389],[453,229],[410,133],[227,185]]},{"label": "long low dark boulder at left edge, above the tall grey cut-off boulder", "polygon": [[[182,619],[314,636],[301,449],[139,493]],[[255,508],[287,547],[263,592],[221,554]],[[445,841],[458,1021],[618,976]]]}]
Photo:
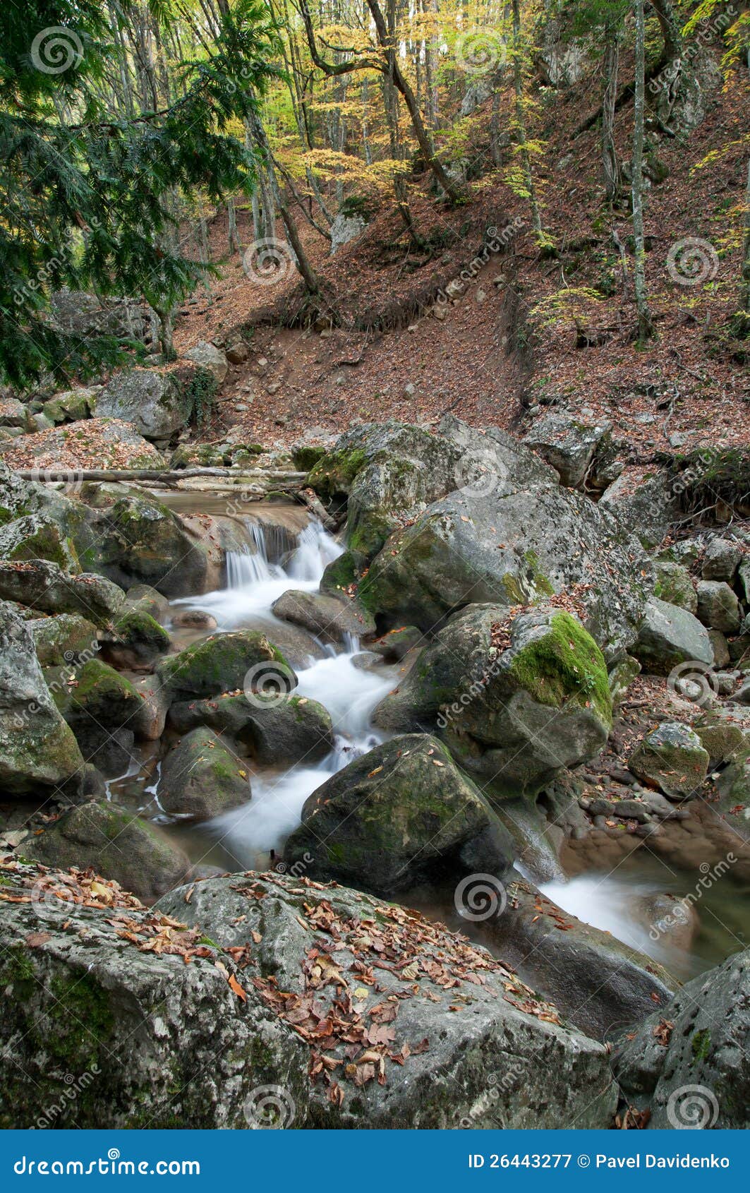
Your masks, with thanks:
[{"label": "long low dark boulder at left edge, above the tall grey cut-off boulder", "polygon": [[0,599],[32,606],[43,613],[80,613],[97,626],[117,619],[125,594],[92,573],[73,576],[47,560],[8,563],[0,560]]}]

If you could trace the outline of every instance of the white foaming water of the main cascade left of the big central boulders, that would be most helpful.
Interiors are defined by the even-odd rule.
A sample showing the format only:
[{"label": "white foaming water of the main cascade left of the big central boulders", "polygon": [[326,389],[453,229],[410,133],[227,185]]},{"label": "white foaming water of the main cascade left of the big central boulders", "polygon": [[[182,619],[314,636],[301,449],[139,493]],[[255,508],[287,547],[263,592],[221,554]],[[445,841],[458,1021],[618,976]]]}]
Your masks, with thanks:
[{"label": "white foaming water of the main cascade left of the big central boulders", "polygon": [[[250,533],[256,550],[228,556],[227,589],[174,604],[212,613],[222,630],[258,617],[277,622],[271,612],[273,601],[289,588],[317,591],[326,565],[342,551],[320,523],[311,521],[281,567],[268,562],[262,526],[253,525]],[[391,668],[383,667],[372,673],[355,667],[353,660],[359,653],[357,639],[349,639],[341,654],[334,654],[331,647],[326,647],[326,659],[311,661],[308,668],[298,669],[296,692],[318,700],[329,711],[335,734],[334,749],[315,766],[300,764],[283,774],[255,772],[250,780],[250,802],[200,827],[243,867],[256,866],[259,857],[269,849],[278,849],[299,823],[302,808],[316,787],[382,741],[371,727],[371,716],[393,686]]]}]

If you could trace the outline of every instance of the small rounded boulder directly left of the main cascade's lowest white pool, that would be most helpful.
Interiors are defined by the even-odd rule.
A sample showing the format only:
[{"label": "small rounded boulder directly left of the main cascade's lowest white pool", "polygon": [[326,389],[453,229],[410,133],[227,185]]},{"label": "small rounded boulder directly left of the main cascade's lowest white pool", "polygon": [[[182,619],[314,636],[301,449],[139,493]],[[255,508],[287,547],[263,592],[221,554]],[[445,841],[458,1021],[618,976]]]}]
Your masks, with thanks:
[{"label": "small rounded boulder directly left of the main cascade's lowest white pool", "polygon": [[167,812],[210,820],[250,798],[247,766],[212,729],[193,729],[169,750],[159,781]]}]

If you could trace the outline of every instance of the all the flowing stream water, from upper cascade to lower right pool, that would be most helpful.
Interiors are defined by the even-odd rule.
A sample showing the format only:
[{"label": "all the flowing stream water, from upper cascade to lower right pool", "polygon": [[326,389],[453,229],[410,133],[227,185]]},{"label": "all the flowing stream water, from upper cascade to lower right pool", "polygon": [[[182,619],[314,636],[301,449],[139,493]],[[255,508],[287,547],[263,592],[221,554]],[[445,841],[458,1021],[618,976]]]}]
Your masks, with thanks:
[{"label": "all the flowing stream water, from upper cascade to lower right pool", "polygon": [[[273,602],[289,588],[317,591],[326,565],[342,548],[316,521],[310,521],[298,533],[291,551],[281,550],[281,539],[275,542],[275,550],[269,550],[273,534],[259,521],[248,520],[247,538],[246,550],[228,555],[227,588],[173,604],[211,613],[218,631],[262,626],[272,639],[275,633],[279,645],[285,649],[283,635],[290,632],[290,626],[273,614]],[[192,633],[191,641],[194,637]],[[248,762],[252,790],[248,803],[203,824],[180,823],[163,815],[157,801],[155,746],[144,752],[141,765],[110,784],[111,797],[168,824],[169,833],[197,864],[211,864],[221,870],[266,869],[271,851],[278,852],[299,823],[306,798],[353,758],[383,740],[371,716],[399,674],[398,668],[385,665],[376,669],[357,666],[360,653],[357,641],[335,651],[330,645],[304,637],[309,649],[306,657],[304,648],[296,644],[298,651],[303,650],[302,660],[295,661],[299,680],[297,692],[318,700],[331,716],[335,746],[327,758],[315,765],[300,764],[277,771],[254,768]],[[175,633],[175,638],[179,643],[180,635]],[[662,892],[689,896],[695,889],[695,874],[677,872],[645,851],[637,851],[616,873],[587,873],[566,879],[534,818],[527,817],[528,823],[521,823],[522,808],[514,810],[514,818],[519,817],[517,828],[525,842],[523,861],[519,866],[544,894],[568,913],[610,932],[677,976],[687,978],[715,965],[750,939],[746,892],[736,888],[731,876],[709,891],[701,890],[694,904],[698,929],[689,947],[669,945],[663,937],[655,939],[644,905]],[[452,888],[421,888],[404,892],[402,900],[453,927],[464,927],[455,921]]]}]

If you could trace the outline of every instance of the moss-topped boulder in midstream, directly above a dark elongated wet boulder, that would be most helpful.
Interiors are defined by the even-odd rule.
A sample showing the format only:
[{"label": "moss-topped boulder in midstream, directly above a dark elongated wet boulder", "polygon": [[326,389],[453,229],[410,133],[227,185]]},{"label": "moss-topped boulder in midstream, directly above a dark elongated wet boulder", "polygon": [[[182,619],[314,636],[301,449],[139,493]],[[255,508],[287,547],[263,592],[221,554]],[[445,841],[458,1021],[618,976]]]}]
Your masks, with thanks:
[{"label": "moss-topped boulder in midstream, directly above a dark elongated wet boulder", "polygon": [[281,651],[258,630],[212,633],[178,655],[163,659],[156,674],[173,700],[193,700],[249,686],[262,692],[273,687],[290,692],[297,676]]}]

